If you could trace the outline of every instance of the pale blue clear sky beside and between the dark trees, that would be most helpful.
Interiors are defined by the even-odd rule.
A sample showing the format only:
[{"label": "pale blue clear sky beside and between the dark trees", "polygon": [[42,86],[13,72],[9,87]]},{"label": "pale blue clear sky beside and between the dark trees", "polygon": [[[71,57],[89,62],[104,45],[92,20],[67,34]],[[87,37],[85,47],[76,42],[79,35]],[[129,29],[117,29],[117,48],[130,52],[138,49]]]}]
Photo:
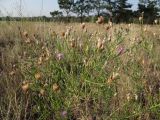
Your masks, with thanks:
[{"label": "pale blue clear sky beside and between the dark trees", "polygon": [[[22,1],[22,12],[20,12]],[[137,8],[138,0],[128,0]],[[0,16],[50,16],[50,12],[59,10],[57,0],[0,0]],[[22,15],[21,15],[22,13]]]}]

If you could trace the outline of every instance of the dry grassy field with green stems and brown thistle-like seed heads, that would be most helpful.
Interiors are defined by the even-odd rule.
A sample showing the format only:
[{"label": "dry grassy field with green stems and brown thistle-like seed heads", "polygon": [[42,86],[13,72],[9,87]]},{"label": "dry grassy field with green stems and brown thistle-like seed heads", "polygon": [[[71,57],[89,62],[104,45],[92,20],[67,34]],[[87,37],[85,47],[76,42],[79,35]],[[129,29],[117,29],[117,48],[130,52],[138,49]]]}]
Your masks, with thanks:
[{"label": "dry grassy field with green stems and brown thistle-like seed heads", "polygon": [[159,120],[160,25],[0,22],[0,120]]}]

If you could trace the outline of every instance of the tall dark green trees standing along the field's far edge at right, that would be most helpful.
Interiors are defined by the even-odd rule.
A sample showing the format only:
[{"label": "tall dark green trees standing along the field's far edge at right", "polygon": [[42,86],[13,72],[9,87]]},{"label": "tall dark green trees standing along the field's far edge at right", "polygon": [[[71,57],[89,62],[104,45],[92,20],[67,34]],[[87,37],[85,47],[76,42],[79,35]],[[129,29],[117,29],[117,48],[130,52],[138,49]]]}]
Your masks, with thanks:
[{"label": "tall dark green trees standing along the field's far edge at right", "polygon": [[160,14],[160,0],[139,0],[137,10],[133,11],[128,0],[58,0],[60,11],[50,12],[55,19],[64,18],[80,22],[94,17],[104,16],[115,23],[134,22],[142,16],[145,23],[153,23]]}]

